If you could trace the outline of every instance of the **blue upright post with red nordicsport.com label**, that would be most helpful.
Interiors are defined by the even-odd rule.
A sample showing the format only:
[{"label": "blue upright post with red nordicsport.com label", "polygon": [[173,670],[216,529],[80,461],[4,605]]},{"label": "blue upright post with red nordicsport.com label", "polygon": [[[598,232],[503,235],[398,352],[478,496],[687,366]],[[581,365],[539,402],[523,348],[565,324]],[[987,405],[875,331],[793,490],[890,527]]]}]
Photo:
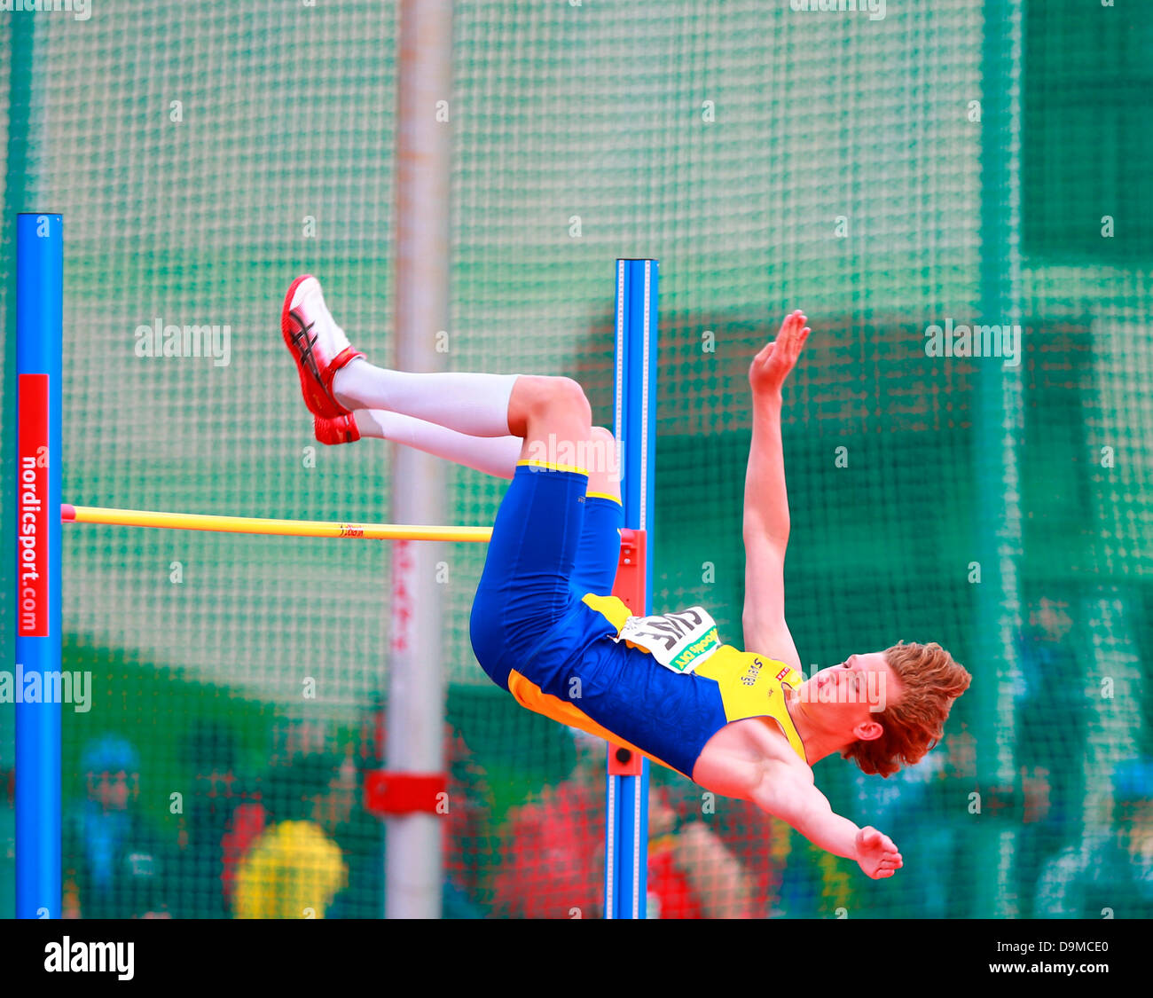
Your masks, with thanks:
[{"label": "blue upright post with red nordicsport.com label", "polygon": [[[16,216],[16,917],[59,918],[63,222]],[[32,682],[29,682],[32,680]],[[36,691],[36,699],[31,695]]]}]

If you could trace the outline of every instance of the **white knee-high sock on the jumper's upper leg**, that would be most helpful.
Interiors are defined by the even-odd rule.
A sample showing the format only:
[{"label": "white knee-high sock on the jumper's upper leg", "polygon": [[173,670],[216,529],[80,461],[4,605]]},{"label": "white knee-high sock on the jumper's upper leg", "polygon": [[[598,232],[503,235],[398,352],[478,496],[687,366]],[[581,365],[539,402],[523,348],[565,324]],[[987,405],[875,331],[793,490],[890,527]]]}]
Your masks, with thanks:
[{"label": "white knee-high sock on the jumper's upper leg", "polygon": [[345,408],[386,410],[468,436],[508,436],[514,374],[409,374],[357,358],[337,372],[332,393]]}]

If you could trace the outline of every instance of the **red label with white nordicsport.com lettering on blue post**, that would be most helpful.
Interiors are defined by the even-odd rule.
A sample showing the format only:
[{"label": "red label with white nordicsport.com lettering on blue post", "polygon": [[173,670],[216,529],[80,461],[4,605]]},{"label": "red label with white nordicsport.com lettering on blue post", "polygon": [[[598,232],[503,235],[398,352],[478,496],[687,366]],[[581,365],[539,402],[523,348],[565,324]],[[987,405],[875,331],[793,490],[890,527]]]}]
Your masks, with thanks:
[{"label": "red label with white nordicsport.com lettering on blue post", "polygon": [[17,385],[16,635],[48,636],[48,376]]}]

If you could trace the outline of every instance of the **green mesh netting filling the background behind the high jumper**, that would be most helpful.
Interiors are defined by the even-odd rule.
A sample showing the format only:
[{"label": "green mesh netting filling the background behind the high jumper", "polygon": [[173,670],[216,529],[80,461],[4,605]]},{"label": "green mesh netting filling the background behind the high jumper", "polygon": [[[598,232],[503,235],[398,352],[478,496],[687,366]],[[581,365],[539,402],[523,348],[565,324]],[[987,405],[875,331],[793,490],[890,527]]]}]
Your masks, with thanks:
[{"label": "green mesh netting filling the background behind the high jumper", "polygon": [[[612,262],[658,258],[655,603],[702,603],[739,645],[746,370],[804,308],[784,427],[802,662],[937,640],[986,684],[915,768],[816,767],[835,809],[900,846],[889,881],[655,772],[650,911],[1148,915],[1153,787],[1132,760],[1151,751],[1153,261],[1132,122],[1153,29],[1071,0],[792,6],[455,13],[451,368],[572,375],[609,422]],[[0,22],[6,205],[66,220],[66,500],[386,520],[390,450],[315,443],[277,322],[312,272],[354,344],[390,359],[395,5],[90,12]],[[985,78],[987,15],[1016,18],[1028,75]],[[982,120],[990,87],[1013,120]],[[982,185],[994,126],[1019,148],[1015,192]],[[1020,204],[1000,250],[1019,318],[985,320],[1022,324],[1017,366],[925,351],[928,325],[982,321],[988,197]],[[227,327],[227,363],[138,357],[157,322]],[[1019,412],[990,407],[1001,378]],[[450,488],[454,521],[488,524],[503,482],[453,470]],[[977,564],[1007,532],[1012,571]],[[69,910],[382,914],[383,835],[356,787],[383,744],[389,557],[66,530],[66,668],[92,683],[65,712]],[[603,750],[488,684],[467,633],[483,550],[450,558],[445,914],[597,915]],[[982,606],[1000,630],[978,656]],[[0,705],[7,773],[12,719]],[[0,819],[2,915],[10,795]]]}]

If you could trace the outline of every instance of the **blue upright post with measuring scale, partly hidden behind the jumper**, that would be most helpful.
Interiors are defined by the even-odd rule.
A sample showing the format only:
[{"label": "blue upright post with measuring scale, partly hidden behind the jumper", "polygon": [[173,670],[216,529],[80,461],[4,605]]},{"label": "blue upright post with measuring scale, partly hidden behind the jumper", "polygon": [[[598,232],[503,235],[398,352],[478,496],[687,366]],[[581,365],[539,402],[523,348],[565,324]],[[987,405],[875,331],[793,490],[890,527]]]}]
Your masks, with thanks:
[{"label": "blue upright post with measuring scale, partly hidden behind the jumper", "polygon": [[[613,434],[620,451],[625,526],[643,531],[645,606],[653,607],[656,458],[657,261],[618,260]],[[630,772],[610,746],[605,796],[604,916],[643,918],[648,900],[648,759]],[[615,770],[617,772],[615,772]]]}]

